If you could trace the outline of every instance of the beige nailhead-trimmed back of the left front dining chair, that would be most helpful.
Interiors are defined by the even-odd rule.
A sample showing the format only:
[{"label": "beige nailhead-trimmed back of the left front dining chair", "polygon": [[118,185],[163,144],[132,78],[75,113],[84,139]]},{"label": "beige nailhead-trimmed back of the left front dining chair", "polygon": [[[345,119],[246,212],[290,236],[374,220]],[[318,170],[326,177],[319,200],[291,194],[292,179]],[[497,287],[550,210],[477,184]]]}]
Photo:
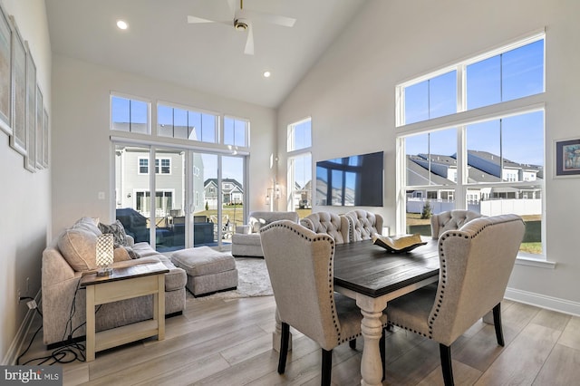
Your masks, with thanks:
[{"label": "beige nailhead-trimmed back of the left front dining chair", "polygon": [[334,240],[293,221],[260,229],[280,321],[332,350],[341,326],[333,295]]}]

